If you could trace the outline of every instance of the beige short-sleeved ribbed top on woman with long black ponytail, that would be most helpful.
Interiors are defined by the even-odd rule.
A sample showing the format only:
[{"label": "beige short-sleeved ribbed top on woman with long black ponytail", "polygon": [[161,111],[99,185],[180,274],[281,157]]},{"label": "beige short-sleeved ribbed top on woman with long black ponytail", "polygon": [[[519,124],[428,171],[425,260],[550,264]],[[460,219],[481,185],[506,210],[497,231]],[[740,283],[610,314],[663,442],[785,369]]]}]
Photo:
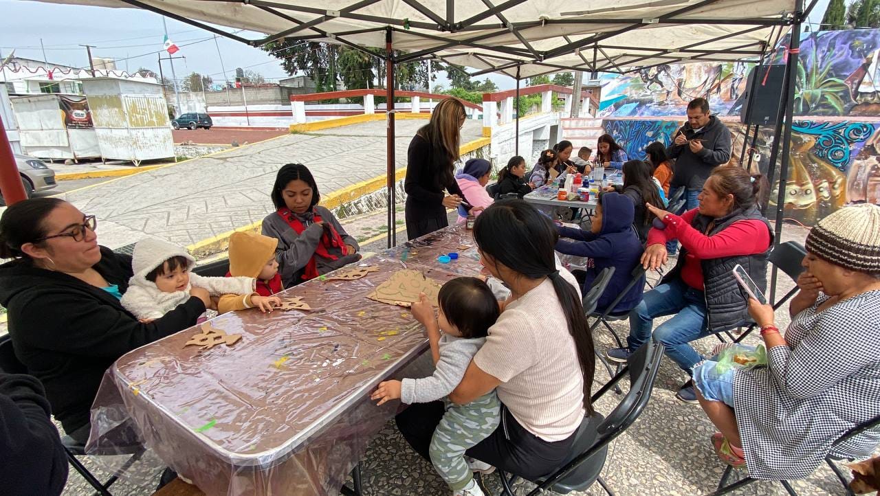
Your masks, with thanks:
[{"label": "beige short-sleeved ribbed top on woman with long black ponytail", "polygon": [[[560,274],[580,298],[575,277]],[[502,382],[498,398],[530,433],[562,441],[581,425],[583,372],[549,278],[504,309],[473,361]]]}]

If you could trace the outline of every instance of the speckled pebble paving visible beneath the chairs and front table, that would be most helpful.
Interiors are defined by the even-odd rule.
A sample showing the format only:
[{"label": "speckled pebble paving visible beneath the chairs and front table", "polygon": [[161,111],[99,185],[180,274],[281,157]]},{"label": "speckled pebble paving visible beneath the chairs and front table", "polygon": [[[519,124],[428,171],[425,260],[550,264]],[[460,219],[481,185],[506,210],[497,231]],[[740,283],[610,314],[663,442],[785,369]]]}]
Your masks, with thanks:
[{"label": "speckled pebble paving visible beneath the chairs and front table", "polygon": [[[803,243],[805,236],[806,230],[786,226],[783,241],[795,239]],[[400,233],[399,238],[406,239],[406,233]],[[385,241],[380,240],[365,246],[365,249],[378,251],[384,245]],[[792,283],[784,274],[780,281],[780,294],[784,294],[792,287]],[[788,325],[788,314],[785,311],[778,312],[777,318],[780,326]],[[613,326],[621,335],[626,335],[628,326],[625,322],[614,323]],[[607,332],[597,332],[596,339],[597,346],[602,350],[612,346],[612,339]],[[748,341],[756,344],[758,339],[752,337]],[[708,353],[715,342],[714,338],[702,339],[697,346],[701,352]],[[604,369],[598,369],[596,387],[605,383],[607,378]],[[684,378],[678,368],[664,360],[648,407],[633,427],[612,442],[602,476],[620,496],[707,494],[712,492],[721,478],[723,465],[717,460],[709,444],[709,436],[715,429],[699,406],[686,405],[674,398]],[[623,381],[621,385],[624,390],[627,389],[627,381]],[[619,401],[618,398],[613,394],[607,395],[596,405],[598,411],[605,414],[611,412]],[[94,466],[91,461],[87,463]],[[392,421],[370,442],[363,457],[363,467],[364,492],[369,496],[449,494],[431,465],[409,449]],[[158,476],[150,478],[149,484],[143,487],[123,481],[114,486],[114,494],[148,495],[157,478]],[[495,477],[488,477],[487,480],[489,493],[500,494],[500,485]],[[844,494],[831,470],[825,467],[821,467],[810,478],[796,481],[793,485],[802,495]],[[525,494],[531,488],[531,485],[520,484],[517,486],[517,494]],[[79,496],[91,494],[91,491],[84,485],[82,478],[71,472],[64,494]],[[594,486],[586,492],[572,494],[598,495],[604,492]],[[782,496],[785,492],[776,483],[759,482],[732,494]]]}]

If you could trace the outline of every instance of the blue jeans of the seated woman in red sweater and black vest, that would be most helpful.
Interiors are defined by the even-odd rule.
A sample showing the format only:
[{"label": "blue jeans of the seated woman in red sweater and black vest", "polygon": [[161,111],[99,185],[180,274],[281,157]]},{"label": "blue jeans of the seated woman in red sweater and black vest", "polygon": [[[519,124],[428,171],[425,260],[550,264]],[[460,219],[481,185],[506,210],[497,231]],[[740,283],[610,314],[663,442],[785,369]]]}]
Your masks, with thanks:
[{"label": "blue jeans of the seated woman in red sweater and black vest", "polygon": [[678,367],[691,373],[691,368],[702,358],[687,343],[712,334],[706,328],[706,299],[703,292],[691,288],[684,281],[661,284],[642,297],[633,311],[629,312],[630,350],[642,346],[651,338],[654,317],[674,315],[654,330],[654,339],[666,348],[666,355],[678,363]]}]

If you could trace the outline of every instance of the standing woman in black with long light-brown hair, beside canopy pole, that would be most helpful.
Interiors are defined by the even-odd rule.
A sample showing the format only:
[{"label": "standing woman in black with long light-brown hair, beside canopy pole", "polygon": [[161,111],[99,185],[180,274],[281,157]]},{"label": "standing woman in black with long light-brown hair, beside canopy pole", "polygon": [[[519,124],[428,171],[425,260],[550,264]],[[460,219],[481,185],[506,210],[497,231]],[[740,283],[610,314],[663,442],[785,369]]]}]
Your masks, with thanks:
[{"label": "standing woman in black with long light-brown hair, beside canopy pole", "polygon": [[[409,239],[448,226],[446,208],[458,208],[465,198],[452,173],[465,119],[465,106],[455,98],[444,98],[434,107],[428,125],[409,142],[403,182]],[[450,194],[444,194],[444,189]]]}]

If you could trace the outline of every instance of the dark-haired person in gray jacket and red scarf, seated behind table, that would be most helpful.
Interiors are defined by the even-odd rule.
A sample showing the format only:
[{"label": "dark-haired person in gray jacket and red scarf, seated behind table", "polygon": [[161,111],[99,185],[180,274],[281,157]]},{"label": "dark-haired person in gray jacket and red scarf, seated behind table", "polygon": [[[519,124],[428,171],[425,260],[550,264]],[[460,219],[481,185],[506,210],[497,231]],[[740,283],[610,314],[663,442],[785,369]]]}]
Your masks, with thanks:
[{"label": "dark-haired person in gray jacket and red scarf, seated behind table", "polygon": [[262,232],[278,240],[275,258],[284,288],[361,259],[357,240],[319,201],[318,184],[308,167],[286,164],[278,171],[272,186],[275,212],[263,219]]}]

